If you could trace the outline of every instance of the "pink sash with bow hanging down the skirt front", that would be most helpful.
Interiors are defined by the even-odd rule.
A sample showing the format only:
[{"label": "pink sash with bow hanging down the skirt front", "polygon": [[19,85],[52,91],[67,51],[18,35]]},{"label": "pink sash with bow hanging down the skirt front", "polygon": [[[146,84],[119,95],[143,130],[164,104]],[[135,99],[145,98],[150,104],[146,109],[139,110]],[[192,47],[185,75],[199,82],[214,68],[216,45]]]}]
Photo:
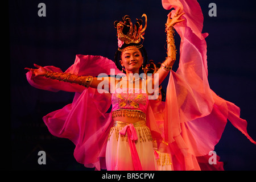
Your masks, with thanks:
[{"label": "pink sash with bow hanging down the skirt front", "polygon": [[127,133],[128,143],[131,152],[131,159],[133,159],[133,167],[135,171],[142,171],[141,161],[136,149],[135,141],[138,140],[137,132],[133,124],[123,127],[119,134],[125,135]]}]

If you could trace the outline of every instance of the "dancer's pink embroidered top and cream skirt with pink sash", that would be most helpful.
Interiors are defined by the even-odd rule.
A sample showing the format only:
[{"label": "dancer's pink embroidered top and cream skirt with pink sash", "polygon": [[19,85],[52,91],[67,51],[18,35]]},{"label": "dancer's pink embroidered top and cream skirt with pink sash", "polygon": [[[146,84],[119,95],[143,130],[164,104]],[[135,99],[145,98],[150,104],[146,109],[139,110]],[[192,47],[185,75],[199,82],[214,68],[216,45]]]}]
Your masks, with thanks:
[{"label": "dancer's pink embroidered top and cream skirt with pink sash", "polygon": [[152,136],[145,121],[148,107],[146,79],[142,79],[143,89],[120,88],[121,82],[112,94],[113,118],[121,115],[140,121],[133,124],[114,122],[106,148],[106,167],[122,171],[156,170]]}]

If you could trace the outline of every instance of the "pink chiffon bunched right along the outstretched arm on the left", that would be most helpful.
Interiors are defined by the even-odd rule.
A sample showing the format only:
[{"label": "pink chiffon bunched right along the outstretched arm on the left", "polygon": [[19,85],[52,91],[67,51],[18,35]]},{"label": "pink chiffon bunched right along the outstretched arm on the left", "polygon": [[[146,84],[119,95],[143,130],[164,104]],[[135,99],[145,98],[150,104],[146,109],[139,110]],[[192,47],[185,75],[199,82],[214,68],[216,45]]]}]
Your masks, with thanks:
[{"label": "pink chiffon bunched right along the outstretched arm on the left", "polygon": [[[60,68],[47,66],[44,67],[49,71],[63,73]],[[92,55],[76,55],[75,63],[71,65],[64,73],[71,73],[81,76],[98,76],[100,73],[110,75],[110,69],[113,69],[115,74],[122,73],[117,69],[114,62],[106,57]],[[38,89],[57,92],[59,90],[67,92],[83,92],[85,87],[78,84],[71,84],[58,80],[52,80],[43,76],[33,77],[32,72],[27,72],[26,77],[30,85]]]}]

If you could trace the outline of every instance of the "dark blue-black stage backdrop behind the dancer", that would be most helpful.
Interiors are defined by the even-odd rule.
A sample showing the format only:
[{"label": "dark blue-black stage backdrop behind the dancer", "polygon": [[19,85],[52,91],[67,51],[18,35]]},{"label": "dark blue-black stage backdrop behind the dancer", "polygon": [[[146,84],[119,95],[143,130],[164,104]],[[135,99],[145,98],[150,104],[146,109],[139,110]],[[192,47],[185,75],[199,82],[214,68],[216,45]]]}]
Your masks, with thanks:
[{"label": "dark blue-black stage backdrop behind the dancer", "polygon": [[[46,4],[46,17],[38,16],[38,4]],[[210,88],[241,108],[247,131],[256,139],[255,122],[255,6],[253,1],[200,0],[203,33],[208,46]],[[209,3],[217,16],[210,17]],[[7,8],[7,7],[6,7]],[[51,111],[72,102],[74,93],[33,88],[24,67],[54,65],[65,71],[76,54],[114,59],[117,49],[115,20],[147,14],[144,47],[155,63],[166,57],[166,23],[169,11],[161,1],[9,1],[11,168],[15,170],[88,170],[73,157],[74,144],[53,137],[42,121]],[[144,18],[143,18],[144,19]],[[4,38],[4,37],[3,37]],[[175,36],[179,48],[179,36]],[[177,69],[178,61],[174,69]],[[164,88],[167,86],[165,81]],[[46,165],[38,164],[38,152],[46,151]],[[230,122],[215,151],[226,170],[255,170],[256,146]],[[9,161],[10,163],[10,161]]]}]

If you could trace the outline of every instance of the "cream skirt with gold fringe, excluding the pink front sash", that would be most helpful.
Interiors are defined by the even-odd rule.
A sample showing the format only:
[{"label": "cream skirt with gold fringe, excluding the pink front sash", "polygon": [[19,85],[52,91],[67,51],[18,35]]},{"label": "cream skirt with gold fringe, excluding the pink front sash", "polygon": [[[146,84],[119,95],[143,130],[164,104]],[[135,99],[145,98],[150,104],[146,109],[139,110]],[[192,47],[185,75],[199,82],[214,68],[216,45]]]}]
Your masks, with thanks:
[{"label": "cream skirt with gold fringe, excluding the pink front sash", "polygon": [[[110,129],[106,146],[106,167],[108,171],[133,171],[137,169],[135,166],[138,161],[133,160],[134,152],[131,143],[129,143],[128,131],[125,134],[119,133],[121,130],[123,131],[124,127],[127,128],[127,125],[129,123],[115,121],[114,126]],[[150,129],[146,126],[145,121],[139,121],[132,125],[129,126],[135,129],[134,132],[138,138],[133,142],[141,163],[141,169],[143,171],[157,170]]]}]

